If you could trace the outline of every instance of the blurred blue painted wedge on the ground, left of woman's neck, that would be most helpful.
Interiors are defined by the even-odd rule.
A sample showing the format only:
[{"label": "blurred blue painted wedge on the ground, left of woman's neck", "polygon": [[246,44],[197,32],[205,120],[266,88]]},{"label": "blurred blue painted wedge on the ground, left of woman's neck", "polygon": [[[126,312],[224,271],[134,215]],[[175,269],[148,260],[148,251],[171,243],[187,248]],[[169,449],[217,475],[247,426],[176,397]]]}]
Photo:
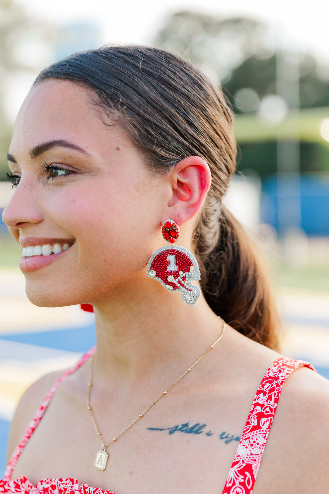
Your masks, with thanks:
[{"label": "blurred blue painted wedge on the ground, left of woman's neck", "polygon": [[89,348],[95,345],[96,341],[94,324],[74,329],[1,334],[0,339],[79,353],[89,350]]}]

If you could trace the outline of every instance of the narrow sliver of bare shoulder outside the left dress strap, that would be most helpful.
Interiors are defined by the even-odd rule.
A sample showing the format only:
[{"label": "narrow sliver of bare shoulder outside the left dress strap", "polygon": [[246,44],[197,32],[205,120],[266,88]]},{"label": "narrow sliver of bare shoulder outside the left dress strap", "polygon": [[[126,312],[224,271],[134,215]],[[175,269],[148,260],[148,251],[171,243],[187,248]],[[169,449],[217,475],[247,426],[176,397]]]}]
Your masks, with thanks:
[{"label": "narrow sliver of bare shoulder outside the left dress strap", "polygon": [[8,441],[8,458],[22,439],[43,398],[63,371],[49,372],[33,383],[20,399],[14,414]]}]

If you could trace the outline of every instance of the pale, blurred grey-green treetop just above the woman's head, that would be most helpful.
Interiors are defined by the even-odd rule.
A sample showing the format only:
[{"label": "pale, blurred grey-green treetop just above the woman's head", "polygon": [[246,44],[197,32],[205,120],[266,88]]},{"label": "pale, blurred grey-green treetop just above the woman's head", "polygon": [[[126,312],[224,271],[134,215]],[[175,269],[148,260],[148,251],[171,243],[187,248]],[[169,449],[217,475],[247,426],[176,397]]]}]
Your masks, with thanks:
[{"label": "pale, blurred grey-green treetop just above the woman's head", "polygon": [[266,25],[246,17],[221,19],[182,11],[173,14],[156,36],[156,43],[191,60],[216,82],[231,77],[235,67],[254,54],[268,57]]}]

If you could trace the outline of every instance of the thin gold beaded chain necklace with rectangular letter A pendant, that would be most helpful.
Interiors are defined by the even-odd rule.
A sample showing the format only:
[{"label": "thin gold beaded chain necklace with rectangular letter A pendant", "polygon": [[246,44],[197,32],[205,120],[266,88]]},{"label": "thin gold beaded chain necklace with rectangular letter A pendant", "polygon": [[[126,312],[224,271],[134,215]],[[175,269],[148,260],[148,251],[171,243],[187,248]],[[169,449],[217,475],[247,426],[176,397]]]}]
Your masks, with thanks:
[{"label": "thin gold beaded chain necklace with rectangular letter A pendant", "polygon": [[[221,319],[221,318],[220,318]],[[222,319],[221,319],[222,320]],[[166,390],[166,391],[163,391],[163,393],[159,396],[159,398],[157,398],[157,400],[155,400],[155,402],[152,403],[152,405],[150,405],[148,408],[146,408],[146,410],[141,413],[140,415],[138,415],[137,418],[135,418],[135,420],[133,420],[131,422],[131,424],[129,424],[125,429],[123,429],[123,431],[120,432],[120,434],[118,434],[116,437],[113,437],[113,439],[111,439],[108,443],[105,444],[103,438],[102,438],[102,434],[99,432],[98,428],[97,428],[97,425],[96,425],[96,422],[95,422],[95,418],[94,418],[94,415],[93,415],[93,411],[91,409],[91,406],[90,406],[90,393],[91,393],[91,387],[92,387],[92,376],[93,376],[93,362],[94,362],[94,357],[91,357],[90,358],[90,367],[89,367],[89,379],[88,379],[88,394],[87,394],[87,410],[89,410],[90,412],[90,415],[91,415],[91,419],[93,421],[93,424],[94,424],[94,427],[95,427],[95,430],[96,430],[96,434],[98,435],[98,437],[100,438],[101,440],[101,443],[102,443],[102,447],[100,449],[100,451],[98,451],[96,453],[96,458],[95,458],[95,463],[94,463],[94,467],[97,469],[97,470],[101,470],[101,471],[104,471],[106,469],[106,465],[107,465],[107,462],[108,462],[108,458],[109,458],[109,454],[107,453],[106,449],[107,447],[113,443],[114,441],[116,441],[120,436],[122,436],[122,434],[124,432],[126,432],[128,429],[130,429],[130,427],[132,427],[140,418],[142,418],[146,412],[148,412],[161,398],[163,398],[167,393],[168,391],[175,386],[175,384],[177,384],[183,377],[184,375],[186,375],[188,372],[190,372],[193,367],[196,366],[196,364],[198,364],[200,362],[201,359],[203,359],[203,357],[205,355],[207,355],[208,352],[210,352],[210,350],[212,350],[214,348],[215,345],[217,345],[217,343],[221,340],[221,338],[223,337],[224,335],[224,331],[225,331],[225,327],[226,327],[226,323],[225,321],[222,320],[222,323],[223,323],[223,327],[222,327],[222,330],[221,330],[221,333],[220,333],[220,336],[219,338],[215,341],[215,343],[213,343],[209,348],[208,350],[205,351],[205,353],[203,355],[201,355],[201,357],[196,361],[194,362],[194,364],[189,367],[187,369],[187,371],[185,371],[181,377],[179,377],[171,386],[169,386],[169,388]]]}]

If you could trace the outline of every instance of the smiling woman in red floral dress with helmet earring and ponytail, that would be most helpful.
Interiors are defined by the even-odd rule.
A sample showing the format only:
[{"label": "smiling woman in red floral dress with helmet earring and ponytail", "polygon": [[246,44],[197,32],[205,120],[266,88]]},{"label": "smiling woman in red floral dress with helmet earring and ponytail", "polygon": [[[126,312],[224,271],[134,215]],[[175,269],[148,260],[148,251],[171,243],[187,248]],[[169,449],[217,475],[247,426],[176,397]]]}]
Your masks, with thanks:
[{"label": "smiling woman in red floral dress with helmet earring and ponytail", "polygon": [[3,219],[29,299],[91,304],[97,352],[25,393],[1,492],[328,493],[328,381],[274,350],[258,254],[221,206],[235,154],[221,91],[169,52],[105,47],[38,76]]}]

